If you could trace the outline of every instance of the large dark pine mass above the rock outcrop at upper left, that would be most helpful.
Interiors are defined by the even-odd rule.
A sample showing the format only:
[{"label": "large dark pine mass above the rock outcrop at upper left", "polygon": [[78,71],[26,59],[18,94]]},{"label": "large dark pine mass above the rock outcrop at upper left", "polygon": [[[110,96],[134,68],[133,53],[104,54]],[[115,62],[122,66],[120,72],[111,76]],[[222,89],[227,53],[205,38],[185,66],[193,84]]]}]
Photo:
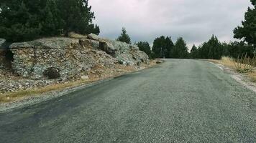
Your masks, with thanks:
[{"label": "large dark pine mass above the rock outcrop at upper left", "polygon": [[11,42],[100,32],[88,0],[1,0],[0,19],[0,37]]}]

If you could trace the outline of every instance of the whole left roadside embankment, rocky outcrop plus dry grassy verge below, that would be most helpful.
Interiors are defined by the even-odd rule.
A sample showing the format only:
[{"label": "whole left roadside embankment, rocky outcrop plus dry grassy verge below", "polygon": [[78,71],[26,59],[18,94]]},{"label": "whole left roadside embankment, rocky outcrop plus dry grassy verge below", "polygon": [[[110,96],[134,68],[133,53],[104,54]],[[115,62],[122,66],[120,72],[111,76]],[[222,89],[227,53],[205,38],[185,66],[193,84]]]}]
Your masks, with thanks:
[{"label": "whole left roadside embankment, rocky outcrop plus dry grassy verge below", "polygon": [[137,46],[93,34],[14,43],[8,51],[12,63],[9,70],[0,66],[0,103],[31,99],[156,64]]}]

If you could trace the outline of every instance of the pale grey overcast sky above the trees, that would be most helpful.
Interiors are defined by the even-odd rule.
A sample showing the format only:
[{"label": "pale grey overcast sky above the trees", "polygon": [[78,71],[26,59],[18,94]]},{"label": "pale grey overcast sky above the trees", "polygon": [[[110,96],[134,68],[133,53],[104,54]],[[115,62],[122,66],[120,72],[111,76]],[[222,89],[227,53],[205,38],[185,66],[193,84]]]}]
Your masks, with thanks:
[{"label": "pale grey overcast sky above the trees", "polygon": [[234,41],[233,29],[241,24],[249,0],[90,0],[101,36],[116,39],[126,27],[134,41],[157,36],[182,36],[188,46],[198,46],[212,34]]}]

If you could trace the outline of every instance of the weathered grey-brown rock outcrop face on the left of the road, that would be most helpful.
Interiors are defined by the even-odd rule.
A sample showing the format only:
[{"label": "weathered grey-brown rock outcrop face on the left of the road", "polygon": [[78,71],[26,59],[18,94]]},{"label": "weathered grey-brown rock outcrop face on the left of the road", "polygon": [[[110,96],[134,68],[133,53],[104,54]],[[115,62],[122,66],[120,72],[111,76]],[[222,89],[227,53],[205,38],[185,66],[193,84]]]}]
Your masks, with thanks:
[{"label": "weathered grey-brown rock outcrop face on the left of the road", "polygon": [[81,77],[96,65],[114,68],[115,64],[138,66],[149,61],[147,54],[137,46],[119,41],[101,39],[90,34],[88,38],[38,39],[10,46],[14,54],[12,69],[29,79],[49,79],[52,70],[60,78]]}]

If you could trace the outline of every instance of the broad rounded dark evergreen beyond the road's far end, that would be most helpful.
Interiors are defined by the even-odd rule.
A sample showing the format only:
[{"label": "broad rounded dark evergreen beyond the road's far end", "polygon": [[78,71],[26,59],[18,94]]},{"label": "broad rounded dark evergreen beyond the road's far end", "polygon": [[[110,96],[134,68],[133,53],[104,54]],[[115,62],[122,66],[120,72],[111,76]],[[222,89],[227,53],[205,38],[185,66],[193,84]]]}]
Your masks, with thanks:
[{"label": "broad rounded dark evergreen beyond the road's far end", "polygon": [[155,58],[170,58],[173,46],[173,41],[169,36],[157,37],[152,47]]}]

